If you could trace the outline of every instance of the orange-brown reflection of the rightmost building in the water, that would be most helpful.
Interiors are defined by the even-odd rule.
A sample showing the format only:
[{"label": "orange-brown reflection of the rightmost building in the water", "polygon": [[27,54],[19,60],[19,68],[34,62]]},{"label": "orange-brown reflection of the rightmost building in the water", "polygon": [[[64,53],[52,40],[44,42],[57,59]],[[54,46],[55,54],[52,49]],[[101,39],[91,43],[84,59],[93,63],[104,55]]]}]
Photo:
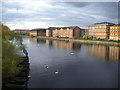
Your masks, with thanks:
[{"label": "orange-brown reflection of the rightmost building in the water", "polygon": [[120,60],[120,47],[109,47],[109,59],[118,61]]}]

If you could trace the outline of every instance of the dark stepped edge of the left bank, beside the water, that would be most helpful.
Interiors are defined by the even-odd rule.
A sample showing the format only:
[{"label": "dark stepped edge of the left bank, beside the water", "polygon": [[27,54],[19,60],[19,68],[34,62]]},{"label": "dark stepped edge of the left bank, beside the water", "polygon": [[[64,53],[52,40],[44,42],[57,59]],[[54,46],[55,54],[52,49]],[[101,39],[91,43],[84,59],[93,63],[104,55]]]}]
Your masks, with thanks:
[{"label": "dark stepped edge of the left bank, beside the water", "polygon": [[17,64],[17,67],[20,68],[20,73],[15,77],[9,79],[7,83],[2,84],[2,90],[7,89],[21,89],[25,90],[27,88],[27,81],[29,79],[29,58],[26,53],[21,52],[20,63]]}]

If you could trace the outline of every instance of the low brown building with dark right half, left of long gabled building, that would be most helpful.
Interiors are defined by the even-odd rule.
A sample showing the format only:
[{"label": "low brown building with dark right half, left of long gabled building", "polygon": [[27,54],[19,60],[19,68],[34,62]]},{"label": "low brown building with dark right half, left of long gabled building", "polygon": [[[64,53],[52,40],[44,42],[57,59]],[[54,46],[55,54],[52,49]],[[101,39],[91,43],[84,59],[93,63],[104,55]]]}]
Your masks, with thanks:
[{"label": "low brown building with dark right half, left of long gabled building", "polygon": [[32,29],[29,32],[30,36],[46,36],[45,28]]}]

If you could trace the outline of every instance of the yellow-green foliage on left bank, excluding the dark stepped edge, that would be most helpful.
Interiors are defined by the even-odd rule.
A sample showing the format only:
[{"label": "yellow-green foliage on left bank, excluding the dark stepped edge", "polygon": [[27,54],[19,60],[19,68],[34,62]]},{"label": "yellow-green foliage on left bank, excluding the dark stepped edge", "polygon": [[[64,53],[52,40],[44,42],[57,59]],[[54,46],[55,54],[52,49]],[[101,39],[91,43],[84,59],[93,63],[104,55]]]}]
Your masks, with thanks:
[{"label": "yellow-green foliage on left bank, excluding the dark stepped edge", "polygon": [[2,82],[6,83],[20,72],[20,68],[17,67],[17,64],[21,61],[17,54],[19,47],[11,42],[21,42],[22,39],[15,35],[9,27],[3,24],[0,24],[0,26],[2,27]]}]

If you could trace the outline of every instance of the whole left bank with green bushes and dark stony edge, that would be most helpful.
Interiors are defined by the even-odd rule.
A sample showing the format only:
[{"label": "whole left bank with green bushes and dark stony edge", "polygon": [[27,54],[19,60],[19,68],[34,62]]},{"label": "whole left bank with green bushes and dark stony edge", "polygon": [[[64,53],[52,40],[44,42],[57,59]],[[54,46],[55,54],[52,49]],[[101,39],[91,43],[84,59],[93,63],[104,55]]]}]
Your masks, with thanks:
[{"label": "whole left bank with green bushes and dark stony edge", "polygon": [[27,87],[29,59],[22,37],[0,24],[2,31],[2,89]]}]

